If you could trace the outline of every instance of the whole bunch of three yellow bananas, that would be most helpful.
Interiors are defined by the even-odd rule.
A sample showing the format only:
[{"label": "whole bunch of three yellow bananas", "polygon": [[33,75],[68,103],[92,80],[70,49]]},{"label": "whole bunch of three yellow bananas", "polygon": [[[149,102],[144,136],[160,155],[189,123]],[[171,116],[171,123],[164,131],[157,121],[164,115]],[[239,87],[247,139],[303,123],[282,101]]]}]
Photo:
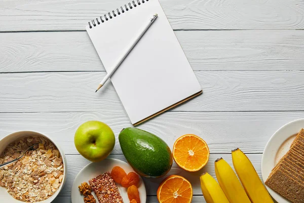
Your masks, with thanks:
[{"label": "whole bunch of three yellow bananas", "polygon": [[207,173],[200,177],[207,203],[274,203],[252,163],[239,148],[232,151],[232,161],[241,182],[222,158],[214,163],[219,184]]}]

